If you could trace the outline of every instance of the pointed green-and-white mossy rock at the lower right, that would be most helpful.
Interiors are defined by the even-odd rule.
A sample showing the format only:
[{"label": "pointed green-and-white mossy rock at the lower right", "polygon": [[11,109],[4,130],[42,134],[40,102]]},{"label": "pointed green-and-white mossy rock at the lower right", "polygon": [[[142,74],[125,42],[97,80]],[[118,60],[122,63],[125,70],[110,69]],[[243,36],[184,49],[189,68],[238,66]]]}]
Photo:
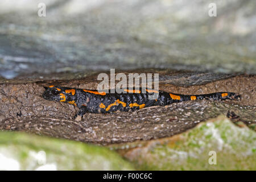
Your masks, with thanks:
[{"label": "pointed green-and-white mossy rock at the lower right", "polygon": [[[181,135],[179,142],[173,142],[173,138],[165,145],[151,142],[145,146],[151,148],[150,152],[145,147],[137,148],[127,158],[132,156],[135,166],[143,170],[256,169],[256,133],[237,127],[224,116],[200,123]],[[209,164],[213,156],[210,151],[216,152],[217,164]]]}]

